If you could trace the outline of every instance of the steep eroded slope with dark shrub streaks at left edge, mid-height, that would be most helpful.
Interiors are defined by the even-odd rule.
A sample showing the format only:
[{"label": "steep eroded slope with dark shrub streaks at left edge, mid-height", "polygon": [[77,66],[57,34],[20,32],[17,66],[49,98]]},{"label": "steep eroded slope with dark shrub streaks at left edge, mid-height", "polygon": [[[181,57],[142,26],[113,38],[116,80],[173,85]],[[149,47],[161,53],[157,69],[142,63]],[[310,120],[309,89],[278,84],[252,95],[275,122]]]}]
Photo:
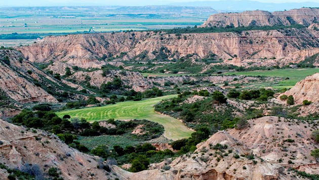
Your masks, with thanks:
[{"label": "steep eroded slope with dark shrub streaks at left edge, mid-height", "polygon": [[[10,98],[21,102],[57,102],[57,99],[43,88],[35,85],[43,78],[54,79],[23,59],[22,54],[13,50],[0,50],[0,59],[9,57],[10,63],[0,63],[0,89]],[[30,72],[27,73],[27,72]]]}]

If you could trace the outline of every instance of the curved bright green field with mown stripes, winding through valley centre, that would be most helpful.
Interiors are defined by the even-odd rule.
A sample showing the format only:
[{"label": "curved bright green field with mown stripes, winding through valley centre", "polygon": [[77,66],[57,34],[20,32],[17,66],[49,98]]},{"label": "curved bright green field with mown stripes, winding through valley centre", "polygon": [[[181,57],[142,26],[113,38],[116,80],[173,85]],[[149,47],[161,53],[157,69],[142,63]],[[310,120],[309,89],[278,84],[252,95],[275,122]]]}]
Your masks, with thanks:
[{"label": "curved bright green field with mown stripes, winding through valley centre", "polygon": [[118,102],[112,105],[102,107],[88,107],[79,110],[69,110],[57,112],[57,115],[62,117],[70,115],[71,118],[85,118],[88,121],[101,121],[114,118],[116,120],[131,120],[131,119],[147,119],[149,121],[162,124],[165,128],[164,135],[173,140],[187,138],[192,133],[179,120],[160,115],[154,112],[154,105],[162,99],[169,99],[176,95],[167,95],[141,101]]}]

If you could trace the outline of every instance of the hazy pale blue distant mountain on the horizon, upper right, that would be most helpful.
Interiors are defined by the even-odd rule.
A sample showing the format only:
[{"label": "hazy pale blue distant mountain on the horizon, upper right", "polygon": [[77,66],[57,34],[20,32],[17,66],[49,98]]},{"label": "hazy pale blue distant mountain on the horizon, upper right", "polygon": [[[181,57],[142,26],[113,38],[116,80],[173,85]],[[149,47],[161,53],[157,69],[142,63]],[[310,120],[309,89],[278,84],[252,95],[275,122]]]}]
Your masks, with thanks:
[{"label": "hazy pale blue distant mountain on the horizon, upper right", "polygon": [[265,10],[284,11],[302,7],[319,7],[319,3],[262,3],[257,1],[194,1],[184,3],[173,3],[174,6],[209,6],[215,10],[225,10],[232,12]]}]

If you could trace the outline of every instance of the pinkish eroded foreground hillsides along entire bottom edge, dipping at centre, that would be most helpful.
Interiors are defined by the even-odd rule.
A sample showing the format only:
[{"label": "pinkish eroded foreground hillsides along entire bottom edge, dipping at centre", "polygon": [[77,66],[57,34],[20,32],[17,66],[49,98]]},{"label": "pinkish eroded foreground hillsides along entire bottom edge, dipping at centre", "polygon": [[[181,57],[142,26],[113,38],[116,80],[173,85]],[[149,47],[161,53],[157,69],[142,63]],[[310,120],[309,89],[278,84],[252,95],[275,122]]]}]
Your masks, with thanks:
[{"label": "pinkish eroded foreground hillsides along entire bottom edge, dipping at centre", "polygon": [[[310,136],[310,130],[316,129],[314,124],[278,117],[262,117],[248,123],[242,130],[217,132],[197,145],[194,154],[131,173],[101,164],[97,157],[67,147],[55,135],[41,130],[30,132],[0,121],[0,162],[8,168],[27,169],[36,177],[50,177],[48,169],[58,168],[58,176],[66,179],[306,179],[296,172],[317,171],[318,165],[310,155],[318,148]],[[6,170],[0,173],[8,176]]]}]

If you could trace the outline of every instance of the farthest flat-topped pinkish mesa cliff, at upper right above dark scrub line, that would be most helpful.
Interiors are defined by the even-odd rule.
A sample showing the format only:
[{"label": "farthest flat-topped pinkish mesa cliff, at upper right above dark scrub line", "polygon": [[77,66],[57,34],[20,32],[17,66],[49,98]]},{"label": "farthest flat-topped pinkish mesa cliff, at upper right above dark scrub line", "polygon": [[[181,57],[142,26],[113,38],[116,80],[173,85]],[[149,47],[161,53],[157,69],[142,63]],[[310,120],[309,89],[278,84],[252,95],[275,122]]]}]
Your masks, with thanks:
[{"label": "farthest flat-topped pinkish mesa cliff, at upper right above dark scrub line", "polygon": [[202,27],[273,26],[302,24],[308,26],[319,20],[319,9],[301,8],[289,11],[245,11],[211,15]]}]

